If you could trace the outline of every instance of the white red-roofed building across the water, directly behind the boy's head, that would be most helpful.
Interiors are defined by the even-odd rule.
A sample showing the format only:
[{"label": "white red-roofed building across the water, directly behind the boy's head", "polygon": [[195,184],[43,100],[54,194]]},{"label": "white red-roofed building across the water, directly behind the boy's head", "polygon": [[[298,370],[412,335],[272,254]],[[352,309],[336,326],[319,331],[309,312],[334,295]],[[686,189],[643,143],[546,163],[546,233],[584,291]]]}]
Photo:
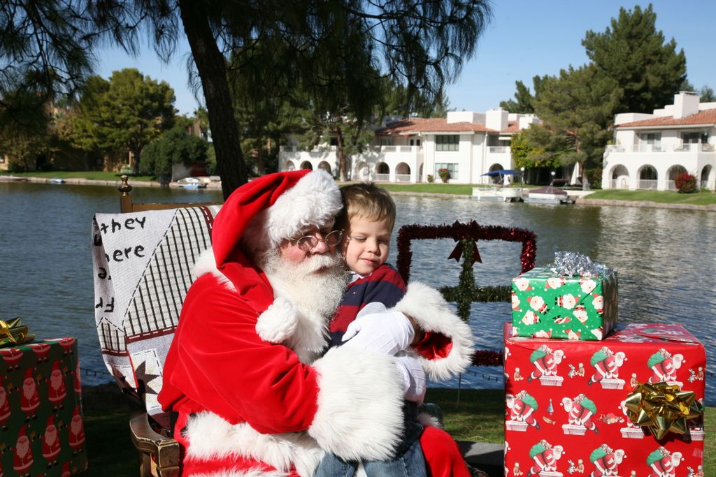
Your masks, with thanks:
[{"label": "white red-roofed building across the water, directly behind the boy's head", "polygon": [[[512,169],[512,134],[538,122],[533,114],[511,114],[503,109],[485,113],[448,112],[445,118],[387,121],[376,129],[371,147],[349,160],[349,179],[377,182],[440,182],[437,170],[450,170],[451,184],[488,182],[485,172]],[[321,167],[337,175],[336,147],[312,151],[283,147],[281,170]]]}]

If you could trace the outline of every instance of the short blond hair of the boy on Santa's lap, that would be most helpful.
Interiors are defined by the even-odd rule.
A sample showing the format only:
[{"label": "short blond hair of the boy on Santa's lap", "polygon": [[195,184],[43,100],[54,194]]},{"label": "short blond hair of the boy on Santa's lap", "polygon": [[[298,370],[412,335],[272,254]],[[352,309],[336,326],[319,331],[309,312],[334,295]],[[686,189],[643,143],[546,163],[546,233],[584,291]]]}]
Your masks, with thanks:
[{"label": "short blond hair of the boy on Santa's lap", "polygon": [[392,232],[395,225],[395,202],[387,190],[370,183],[352,184],[341,187],[343,210],[336,217],[336,225],[347,229],[356,217],[386,222]]}]

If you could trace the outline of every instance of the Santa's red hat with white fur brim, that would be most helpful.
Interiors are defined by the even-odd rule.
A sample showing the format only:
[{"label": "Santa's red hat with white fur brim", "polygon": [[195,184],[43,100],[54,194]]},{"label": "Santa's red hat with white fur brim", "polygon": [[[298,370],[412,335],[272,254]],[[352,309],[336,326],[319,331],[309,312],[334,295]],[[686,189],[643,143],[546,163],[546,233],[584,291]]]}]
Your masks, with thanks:
[{"label": "Santa's red hat with white fur brim", "polygon": [[277,172],[239,187],[216,215],[211,232],[216,266],[231,259],[239,239],[248,252],[277,247],[305,227],[325,225],[341,210],[336,182],[323,169]]}]

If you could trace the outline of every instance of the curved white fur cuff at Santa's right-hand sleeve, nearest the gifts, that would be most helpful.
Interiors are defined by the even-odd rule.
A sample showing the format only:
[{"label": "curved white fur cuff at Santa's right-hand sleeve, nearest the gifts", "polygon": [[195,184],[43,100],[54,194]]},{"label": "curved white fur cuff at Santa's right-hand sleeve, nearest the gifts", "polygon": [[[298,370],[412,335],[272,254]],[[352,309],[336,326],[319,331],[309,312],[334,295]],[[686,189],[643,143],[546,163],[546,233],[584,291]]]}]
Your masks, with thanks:
[{"label": "curved white fur cuff at Santa's right-hand sleeve, nearest the gifts", "polygon": [[439,291],[421,282],[410,282],[402,300],[389,311],[400,311],[409,315],[425,331],[434,331],[448,336],[453,348],[445,358],[427,360],[415,353],[427,377],[445,380],[462,373],[473,358],[473,332],[470,325],[453,313],[450,305]]}]

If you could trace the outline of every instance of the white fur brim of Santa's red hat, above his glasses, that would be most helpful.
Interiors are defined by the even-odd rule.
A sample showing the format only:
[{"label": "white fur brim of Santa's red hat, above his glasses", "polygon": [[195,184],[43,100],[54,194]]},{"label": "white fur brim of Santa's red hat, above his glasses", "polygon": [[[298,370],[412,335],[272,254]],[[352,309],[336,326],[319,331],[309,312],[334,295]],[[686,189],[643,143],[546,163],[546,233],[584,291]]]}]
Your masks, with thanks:
[{"label": "white fur brim of Santa's red hat, above his glasses", "polygon": [[342,207],[336,181],[328,172],[316,169],[301,177],[266,210],[266,233],[278,246],[304,227],[326,225]]}]

